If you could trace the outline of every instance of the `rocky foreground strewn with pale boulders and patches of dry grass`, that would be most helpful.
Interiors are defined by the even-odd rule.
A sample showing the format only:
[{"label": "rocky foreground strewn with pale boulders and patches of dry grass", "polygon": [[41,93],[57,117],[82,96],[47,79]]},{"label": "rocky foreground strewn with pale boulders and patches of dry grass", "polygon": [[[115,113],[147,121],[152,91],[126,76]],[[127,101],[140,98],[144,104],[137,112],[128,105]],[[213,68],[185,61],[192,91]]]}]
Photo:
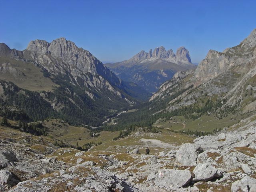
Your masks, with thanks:
[{"label": "rocky foreground strewn with pale boulders and patches of dry grass", "polygon": [[0,191],[255,192],[256,120],[154,155],[57,148],[25,133],[1,137]]}]

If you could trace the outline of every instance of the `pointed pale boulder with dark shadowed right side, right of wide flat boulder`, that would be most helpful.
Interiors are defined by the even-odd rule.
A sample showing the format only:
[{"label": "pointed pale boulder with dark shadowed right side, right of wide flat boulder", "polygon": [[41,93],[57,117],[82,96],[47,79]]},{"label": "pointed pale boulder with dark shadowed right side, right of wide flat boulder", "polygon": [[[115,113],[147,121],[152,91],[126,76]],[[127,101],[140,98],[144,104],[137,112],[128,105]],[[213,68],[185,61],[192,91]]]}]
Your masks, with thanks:
[{"label": "pointed pale boulder with dark shadowed right side, right of wide flat boulder", "polygon": [[194,181],[209,181],[213,178],[222,176],[222,172],[220,170],[208,163],[198,164],[194,168],[193,173],[195,174],[195,178],[193,178]]}]

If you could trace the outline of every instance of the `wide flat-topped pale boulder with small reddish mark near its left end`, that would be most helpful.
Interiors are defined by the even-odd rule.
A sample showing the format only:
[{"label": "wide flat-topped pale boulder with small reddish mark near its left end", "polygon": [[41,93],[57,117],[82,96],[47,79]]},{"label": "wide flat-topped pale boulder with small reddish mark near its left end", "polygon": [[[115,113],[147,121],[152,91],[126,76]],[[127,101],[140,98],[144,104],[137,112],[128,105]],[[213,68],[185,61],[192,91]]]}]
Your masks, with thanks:
[{"label": "wide flat-topped pale boulder with small reddish mark near its left end", "polygon": [[164,169],[156,174],[155,185],[162,187],[184,187],[192,180],[189,170]]}]

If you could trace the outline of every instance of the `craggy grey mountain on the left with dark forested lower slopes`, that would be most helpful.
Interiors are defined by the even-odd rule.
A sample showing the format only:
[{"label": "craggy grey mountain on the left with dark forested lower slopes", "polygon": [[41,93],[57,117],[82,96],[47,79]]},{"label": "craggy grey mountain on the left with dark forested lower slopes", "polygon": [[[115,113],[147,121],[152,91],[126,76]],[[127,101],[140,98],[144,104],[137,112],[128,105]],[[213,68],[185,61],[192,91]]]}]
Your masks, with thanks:
[{"label": "craggy grey mountain on the left with dark forested lower slopes", "polygon": [[23,109],[32,120],[58,117],[98,126],[150,95],[65,38],[34,40],[24,51],[1,43],[0,80],[0,107]]}]

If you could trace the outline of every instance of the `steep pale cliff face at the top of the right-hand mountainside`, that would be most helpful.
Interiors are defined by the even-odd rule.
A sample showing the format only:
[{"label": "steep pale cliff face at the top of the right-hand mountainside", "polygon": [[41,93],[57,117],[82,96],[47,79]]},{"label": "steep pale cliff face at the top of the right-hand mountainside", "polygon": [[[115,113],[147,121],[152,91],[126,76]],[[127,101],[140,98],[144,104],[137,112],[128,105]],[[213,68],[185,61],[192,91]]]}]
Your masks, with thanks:
[{"label": "steep pale cliff face at the top of the right-hand mountainside", "polygon": [[207,82],[228,70],[248,72],[250,70],[248,64],[254,62],[255,56],[256,30],[254,29],[238,46],[227,48],[224,52],[210,50],[196,68],[195,78],[200,82]]}]

